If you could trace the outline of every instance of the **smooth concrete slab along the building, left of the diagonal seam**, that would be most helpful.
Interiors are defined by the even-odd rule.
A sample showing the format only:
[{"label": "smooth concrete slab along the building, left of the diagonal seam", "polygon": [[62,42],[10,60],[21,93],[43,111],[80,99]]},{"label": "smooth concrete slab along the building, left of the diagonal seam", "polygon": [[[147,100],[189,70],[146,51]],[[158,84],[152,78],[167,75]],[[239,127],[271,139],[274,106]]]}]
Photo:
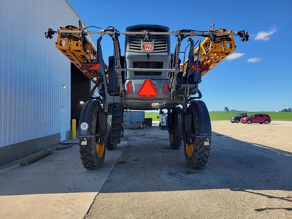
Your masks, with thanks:
[{"label": "smooth concrete slab along the building, left of the diagonal seam", "polygon": [[79,145],[29,166],[0,169],[0,218],[83,218],[123,151],[106,151],[102,168],[83,168]]}]

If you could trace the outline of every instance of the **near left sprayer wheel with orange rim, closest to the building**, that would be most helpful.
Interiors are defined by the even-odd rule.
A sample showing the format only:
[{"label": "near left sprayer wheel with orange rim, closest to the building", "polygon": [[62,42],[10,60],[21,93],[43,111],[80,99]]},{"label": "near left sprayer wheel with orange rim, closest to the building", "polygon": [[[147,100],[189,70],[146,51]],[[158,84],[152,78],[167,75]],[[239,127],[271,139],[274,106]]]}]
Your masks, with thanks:
[{"label": "near left sprayer wheel with orange rim, closest to the building", "polygon": [[102,166],[105,157],[105,144],[96,141],[95,134],[99,127],[98,112],[102,111],[99,103],[94,100],[87,101],[81,112],[80,125],[88,124],[87,133],[93,137],[80,138],[80,155],[82,164],[87,170],[94,170]]}]

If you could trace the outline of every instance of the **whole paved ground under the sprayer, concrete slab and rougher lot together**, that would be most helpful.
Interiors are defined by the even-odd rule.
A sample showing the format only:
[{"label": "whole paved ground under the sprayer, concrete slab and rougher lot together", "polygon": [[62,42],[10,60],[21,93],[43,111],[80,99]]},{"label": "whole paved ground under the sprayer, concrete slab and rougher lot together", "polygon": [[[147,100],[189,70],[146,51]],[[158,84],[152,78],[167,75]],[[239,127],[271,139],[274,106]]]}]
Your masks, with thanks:
[{"label": "whole paved ground under the sprayer, concrete slab and rougher lot together", "polygon": [[2,167],[0,218],[292,218],[292,127],[212,126],[203,170],[186,168],[158,126],[126,130],[96,171],[78,145]]}]

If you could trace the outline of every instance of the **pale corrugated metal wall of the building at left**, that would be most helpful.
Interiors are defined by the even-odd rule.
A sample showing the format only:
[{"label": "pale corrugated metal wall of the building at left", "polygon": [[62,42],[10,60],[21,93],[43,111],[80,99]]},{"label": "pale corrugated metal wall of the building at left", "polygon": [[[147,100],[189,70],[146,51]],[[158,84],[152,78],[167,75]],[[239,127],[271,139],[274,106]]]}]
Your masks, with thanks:
[{"label": "pale corrugated metal wall of the building at left", "polygon": [[0,0],[0,16],[0,147],[59,133],[63,107],[69,130],[70,62],[44,33],[79,17],[65,0]]}]

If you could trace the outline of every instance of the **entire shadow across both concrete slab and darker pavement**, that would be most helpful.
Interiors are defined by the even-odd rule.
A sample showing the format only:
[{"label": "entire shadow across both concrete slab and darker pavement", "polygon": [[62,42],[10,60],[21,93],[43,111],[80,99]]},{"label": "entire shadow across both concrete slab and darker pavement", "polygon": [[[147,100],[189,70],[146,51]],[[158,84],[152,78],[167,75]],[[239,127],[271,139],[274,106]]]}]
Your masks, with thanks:
[{"label": "entire shadow across both concrete slab and darker pavement", "polygon": [[[191,170],[186,167],[184,149],[170,149],[166,130],[158,127],[126,130],[128,143],[101,193],[292,190],[292,153],[215,132],[212,136],[211,155],[206,168]],[[103,168],[108,168],[106,160]],[[102,168],[84,170],[78,147],[73,147],[31,166],[1,172],[0,196],[95,192],[95,181],[102,174]],[[291,202],[290,197],[257,194]]]}]

